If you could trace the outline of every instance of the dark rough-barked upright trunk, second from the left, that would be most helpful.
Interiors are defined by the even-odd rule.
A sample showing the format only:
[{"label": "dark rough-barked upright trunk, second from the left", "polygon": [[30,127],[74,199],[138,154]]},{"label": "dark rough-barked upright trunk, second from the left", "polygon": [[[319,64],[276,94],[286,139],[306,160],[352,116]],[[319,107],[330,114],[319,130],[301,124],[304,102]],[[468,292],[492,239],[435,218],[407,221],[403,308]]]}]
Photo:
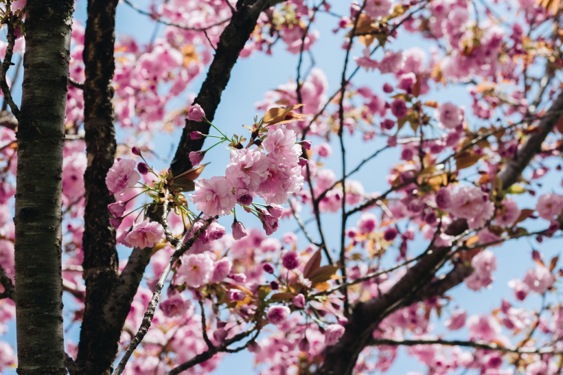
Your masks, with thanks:
[{"label": "dark rough-barked upright trunk, second from the left", "polygon": [[[88,166],[84,174],[84,282],[86,303],[76,367],[81,374],[109,374],[122,326],[107,321],[103,309],[119,278],[115,229],[108,204],[115,199],[106,187],[117,144],[113,126],[115,8],[117,0],[89,0],[84,58],[84,140]],[[123,323],[122,323],[123,324]]]}]

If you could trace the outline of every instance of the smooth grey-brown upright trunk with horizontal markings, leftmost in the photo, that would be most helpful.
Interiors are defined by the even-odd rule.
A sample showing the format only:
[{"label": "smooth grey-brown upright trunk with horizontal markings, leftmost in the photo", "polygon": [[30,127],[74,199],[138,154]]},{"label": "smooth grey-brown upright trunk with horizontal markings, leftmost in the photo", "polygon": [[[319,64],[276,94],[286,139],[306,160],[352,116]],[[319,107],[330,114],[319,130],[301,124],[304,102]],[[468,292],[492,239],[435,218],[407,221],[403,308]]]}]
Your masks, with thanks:
[{"label": "smooth grey-brown upright trunk with horizontal markings, leftmost in the photo", "polygon": [[19,375],[66,374],[61,192],[73,5],[26,5],[14,217]]}]

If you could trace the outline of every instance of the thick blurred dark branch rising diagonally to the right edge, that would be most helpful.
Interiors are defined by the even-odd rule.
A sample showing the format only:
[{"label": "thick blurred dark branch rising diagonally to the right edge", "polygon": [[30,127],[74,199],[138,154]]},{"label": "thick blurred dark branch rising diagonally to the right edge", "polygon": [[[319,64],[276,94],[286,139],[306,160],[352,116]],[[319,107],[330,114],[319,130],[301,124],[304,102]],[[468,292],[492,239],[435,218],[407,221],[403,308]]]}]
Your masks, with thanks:
[{"label": "thick blurred dark branch rising diagonally to the right edge", "polygon": [[[528,163],[541,150],[541,145],[553,126],[557,124],[563,110],[563,93],[553,101],[551,108],[540,121],[540,132],[533,133],[526,141],[518,155],[510,161],[499,174],[503,181],[503,188],[509,188],[516,183]],[[451,235],[451,234],[450,234]],[[371,332],[378,323],[391,312],[422,301],[435,295],[443,295],[446,291],[457,286],[463,279],[471,275],[472,269],[457,265],[452,271],[438,280],[432,281],[435,273],[441,267],[450,248],[433,249],[420,262],[415,264],[387,293],[381,297],[359,303],[354,307],[349,323],[340,341],[327,348],[325,363],[319,368],[319,375],[350,375],[358,355],[369,345]]]}]

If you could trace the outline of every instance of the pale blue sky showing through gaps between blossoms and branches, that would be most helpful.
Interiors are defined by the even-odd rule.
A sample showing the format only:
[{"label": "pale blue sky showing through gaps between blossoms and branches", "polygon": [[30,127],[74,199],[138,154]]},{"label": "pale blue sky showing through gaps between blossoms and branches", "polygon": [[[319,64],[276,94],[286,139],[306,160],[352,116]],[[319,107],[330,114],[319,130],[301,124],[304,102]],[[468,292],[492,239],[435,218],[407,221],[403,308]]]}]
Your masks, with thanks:
[{"label": "pale blue sky showing through gaps between blossoms and branches", "polygon": [[[148,9],[148,0],[137,0],[135,1],[137,5],[141,8]],[[332,10],[338,14],[348,13],[348,1],[333,1]],[[86,1],[78,0],[76,2],[76,12],[75,18],[78,20],[84,20],[86,18]],[[333,16],[325,13],[319,13],[317,15],[317,23],[315,28],[317,28],[321,33],[321,38],[312,47],[312,53],[314,54],[314,59],[316,61],[316,67],[321,68],[328,80],[330,82],[329,95],[331,95],[334,90],[338,88],[341,77],[341,69],[343,67],[344,51],[340,48],[343,43],[343,34],[333,34],[332,29],[336,27],[338,22]],[[125,3],[120,3],[117,8],[117,35],[128,34],[135,36],[138,41],[145,42],[150,40],[153,32],[154,22],[151,21],[147,16],[138,14],[135,10],[132,10]],[[159,27],[162,31],[163,27]],[[428,41],[412,34],[402,35],[397,43],[390,45],[393,50],[406,49],[409,47],[418,46],[424,49],[429,55],[429,48],[432,46]],[[355,56],[361,55],[361,50],[357,48],[354,50]],[[241,133],[242,124],[250,124],[252,118],[257,113],[255,109],[255,102],[263,99],[263,95],[269,89],[275,89],[279,84],[284,84],[288,80],[295,80],[296,77],[296,67],[297,67],[298,56],[286,52],[283,43],[278,43],[274,50],[272,56],[267,56],[266,54],[258,53],[253,54],[250,58],[244,58],[238,60],[232,73],[231,80],[224,91],[221,99],[221,104],[216,113],[216,118],[214,124],[224,129],[228,133]],[[306,58],[307,64],[303,67],[303,71],[308,68],[308,59]],[[352,69],[355,68],[355,63],[351,64]],[[351,71],[352,69],[349,69]],[[196,79],[192,85],[189,87],[189,91],[197,92],[201,82],[205,78],[205,74]],[[378,73],[366,73],[365,71],[360,71],[355,78],[355,82],[362,82],[363,84],[370,86],[374,89],[376,93],[381,92],[381,87],[386,80],[391,80],[387,78],[382,78]],[[21,80],[19,81],[21,82]],[[18,85],[19,86],[19,85]],[[19,89],[15,91],[15,100],[19,102]],[[463,85],[461,86],[448,86],[446,88],[439,87],[438,89],[433,89],[431,91],[432,95],[428,95],[428,100],[435,100],[437,102],[453,102],[457,105],[466,106],[466,109],[470,109],[471,98],[468,94],[467,88]],[[183,106],[187,102],[182,102],[182,100],[187,100],[183,97],[174,102],[174,106]],[[470,117],[471,126],[472,119]],[[479,127],[479,126],[476,126]],[[121,133],[121,132],[119,132]],[[179,140],[180,132],[169,135],[158,135],[154,138],[155,148],[159,151],[159,155],[168,155],[171,149],[175,149],[176,144]],[[317,141],[317,139],[314,139]],[[355,166],[361,159],[370,155],[374,150],[380,148],[384,144],[384,139],[378,139],[374,142],[363,144],[360,143],[358,136],[345,137],[345,143],[349,146],[347,161],[348,166]],[[357,147],[361,145],[360,147]],[[338,153],[338,146],[332,143],[333,156],[328,160],[327,165],[333,170],[341,170],[340,166],[340,155]],[[389,172],[389,167],[395,163],[398,159],[398,152],[391,150],[387,153],[382,154],[376,161],[371,161],[367,163],[363,172],[358,173],[354,179],[359,180],[363,183],[366,190],[369,192],[380,191],[387,188],[387,181],[385,176]],[[227,150],[218,150],[215,152],[213,157],[209,159],[211,165],[206,168],[203,177],[210,177],[213,175],[223,174],[225,163],[228,160]],[[159,164],[160,163],[160,164]],[[158,168],[164,167],[164,162],[155,161],[155,166]],[[350,168],[350,167],[349,167]],[[558,193],[562,193],[561,188],[561,174],[556,173],[552,168],[544,179],[543,190],[553,190]],[[540,190],[538,190],[540,192]],[[522,201],[522,207],[533,208],[535,201],[529,197],[518,197],[519,202]],[[307,209],[305,209],[307,211]],[[303,213],[305,218],[308,217],[308,213]],[[356,217],[349,220],[349,226],[353,226],[356,223]],[[225,218],[222,220],[222,225],[230,226],[231,218]],[[244,223],[247,227],[249,225],[258,225],[256,220],[252,220],[249,215],[248,218],[244,217]],[[339,243],[338,230],[340,228],[340,219],[336,215],[325,215],[323,217],[323,224],[325,225],[325,234],[327,234],[328,243]],[[314,234],[314,226],[310,225],[309,230]],[[334,230],[331,230],[334,228]],[[338,230],[336,230],[338,228]],[[297,229],[297,223],[292,221],[286,221],[284,226],[278,232],[279,236],[284,233],[284,231],[294,231]],[[306,240],[299,234],[299,244],[301,247],[306,246]],[[415,241],[409,247],[409,253],[413,255],[414,253],[419,253],[425,249],[425,242]],[[468,313],[474,314],[479,312],[490,312],[494,308],[498,308],[501,297],[506,297],[509,301],[514,302],[512,298],[512,290],[508,288],[507,282],[514,277],[522,277],[526,271],[531,266],[531,249],[538,249],[546,255],[549,259],[553,255],[557,255],[560,251],[560,245],[562,245],[560,240],[550,240],[544,241],[542,245],[538,245],[533,240],[518,240],[510,242],[509,244],[503,245],[501,247],[494,247],[492,250],[498,258],[498,269],[494,273],[495,282],[493,288],[485,289],[479,292],[473,292],[468,290],[465,286],[459,286],[450,295],[455,295],[456,302],[460,304],[461,307],[466,308]],[[396,250],[395,250],[396,251]],[[126,256],[126,251],[120,249],[120,258]],[[391,254],[385,262],[391,262],[392,258],[396,256],[396,253]],[[390,264],[390,263],[389,263]],[[540,299],[538,297],[529,297],[525,306],[539,306]],[[451,306],[451,308],[455,307]],[[448,317],[448,310],[450,307],[445,309],[444,315],[442,315],[442,322]],[[437,317],[433,317],[434,320]],[[436,321],[436,325],[441,326],[440,321]],[[461,330],[455,332],[455,334],[448,334],[450,338],[464,339],[466,338],[466,330]],[[72,339],[75,343],[78,341],[79,327],[72,326],[69,329],[68,337]],[[15,343],[15,327],[14,324],[10,324],[10,332],[6,334],[3,339],[8,340],[10,343]],[[395,361],[389,373],[392,374],[405,374],[409,371],[420,371],[425,372],[425,368],[417,363],[417,361],[404,355],[404,350],[401,351],[403,354],[400,358]],[[214,372],[216,375],[227,375],[227,374],[255,374],[253,367],[253,356],[249,352],[241,352],[238,354],[226,355],[218,369]],[[236,369],[233,371],[233,369]],[[12,370],[5,372],[6,374],[14,374]]]}]

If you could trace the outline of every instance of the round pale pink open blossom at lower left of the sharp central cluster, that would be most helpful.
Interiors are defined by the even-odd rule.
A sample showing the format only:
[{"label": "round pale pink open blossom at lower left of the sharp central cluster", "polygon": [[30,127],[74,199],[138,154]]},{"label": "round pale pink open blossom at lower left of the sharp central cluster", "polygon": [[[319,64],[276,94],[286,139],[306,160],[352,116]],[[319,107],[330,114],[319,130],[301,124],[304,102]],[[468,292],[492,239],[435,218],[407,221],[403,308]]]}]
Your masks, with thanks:
[{"label": "round pale pink open blossom at lower left of the sharp central cluster", "polygon": [[233,188],[225,177],[211,177],[198,179],[196,192],[190,201],[196,203],[198,209],[207,216],[223,216],[229,214],[235,207]]}]

